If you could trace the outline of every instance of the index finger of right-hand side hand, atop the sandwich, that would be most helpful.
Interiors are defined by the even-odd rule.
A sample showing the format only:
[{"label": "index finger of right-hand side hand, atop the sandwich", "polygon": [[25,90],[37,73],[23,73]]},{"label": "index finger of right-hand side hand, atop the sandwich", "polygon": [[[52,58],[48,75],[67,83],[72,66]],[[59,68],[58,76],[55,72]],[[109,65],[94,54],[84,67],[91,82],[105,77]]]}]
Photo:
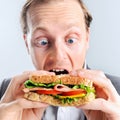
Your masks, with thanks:
[{"label": "index finger of right-hand side hand, atop the sandwich", "polygon": [[102,71],[81,69],[79,71],[72,72],[72,75],[81,76],[83,78],[93,81],[95,86],[102,88],[110,99],[118,99],[117,97],[119,95],[116,89],[112,85],[111,81],[108,78],[106,78]]}]

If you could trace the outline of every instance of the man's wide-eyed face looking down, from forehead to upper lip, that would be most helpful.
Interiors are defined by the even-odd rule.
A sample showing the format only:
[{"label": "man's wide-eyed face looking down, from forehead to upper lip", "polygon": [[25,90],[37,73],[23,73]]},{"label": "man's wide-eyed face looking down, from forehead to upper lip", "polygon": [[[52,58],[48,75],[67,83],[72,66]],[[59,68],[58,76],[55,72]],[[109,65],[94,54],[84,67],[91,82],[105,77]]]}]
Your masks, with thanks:
[{"label": "man's wide-eyed face looking down, from forehead to upper lip", "polygon": [[37,70],[69,72],[83,67],[89,32],[77,0],[35,5],[27,22],[25,41]]}]

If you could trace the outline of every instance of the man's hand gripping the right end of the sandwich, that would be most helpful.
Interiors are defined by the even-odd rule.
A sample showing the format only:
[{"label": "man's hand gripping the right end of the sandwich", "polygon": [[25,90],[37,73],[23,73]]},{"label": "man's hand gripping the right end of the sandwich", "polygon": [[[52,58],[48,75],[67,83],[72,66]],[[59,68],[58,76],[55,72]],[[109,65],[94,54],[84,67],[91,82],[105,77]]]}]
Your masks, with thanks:
[{"label": "man's hand gripping the right end of the sandwich", "polygon": [[88,120],[120,119],[120,96],[103,72],[78,70],[72,71],[71,74],[90,79],[94,83],[96,99],[86,105],[78,107],[84,110]]}]

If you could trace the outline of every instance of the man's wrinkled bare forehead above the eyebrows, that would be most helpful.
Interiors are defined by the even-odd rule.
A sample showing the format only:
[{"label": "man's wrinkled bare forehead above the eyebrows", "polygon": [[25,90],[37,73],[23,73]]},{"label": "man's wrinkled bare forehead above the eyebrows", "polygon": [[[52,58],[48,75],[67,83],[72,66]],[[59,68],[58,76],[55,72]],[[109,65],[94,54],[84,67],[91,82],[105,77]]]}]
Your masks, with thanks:
[{"label": "man's wrinkled bare forehead above the eyebrows", "polygon": [[38,24],[40,26],[61,24],[63,27],[65,24],[85,25],[84,14],[78,0],[53,1],[32,5],[27,13],[28,24],[32,27]]}]

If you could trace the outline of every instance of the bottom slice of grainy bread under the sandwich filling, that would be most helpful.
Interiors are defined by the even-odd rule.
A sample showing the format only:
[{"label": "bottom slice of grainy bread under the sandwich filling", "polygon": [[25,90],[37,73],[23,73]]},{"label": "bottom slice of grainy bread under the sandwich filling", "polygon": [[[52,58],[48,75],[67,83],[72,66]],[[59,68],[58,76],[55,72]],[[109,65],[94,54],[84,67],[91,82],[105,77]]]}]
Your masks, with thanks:
[{"label": "bottom slice of grainy bread under the sandwich filling", "polygon": [[24,97],[31,101],[39,101],[53,106],[79,106],[79,105],[87,104],[88,102],[94,100],[95,94],[91,92],[86,96],[79,98],[77,101],[72,101],[70,103],[68,102],[63,103],[61,99],[54,98],[53,96],[50,95],[44,95],[44,94],[40,95],[34,92],[25,93]]}]

